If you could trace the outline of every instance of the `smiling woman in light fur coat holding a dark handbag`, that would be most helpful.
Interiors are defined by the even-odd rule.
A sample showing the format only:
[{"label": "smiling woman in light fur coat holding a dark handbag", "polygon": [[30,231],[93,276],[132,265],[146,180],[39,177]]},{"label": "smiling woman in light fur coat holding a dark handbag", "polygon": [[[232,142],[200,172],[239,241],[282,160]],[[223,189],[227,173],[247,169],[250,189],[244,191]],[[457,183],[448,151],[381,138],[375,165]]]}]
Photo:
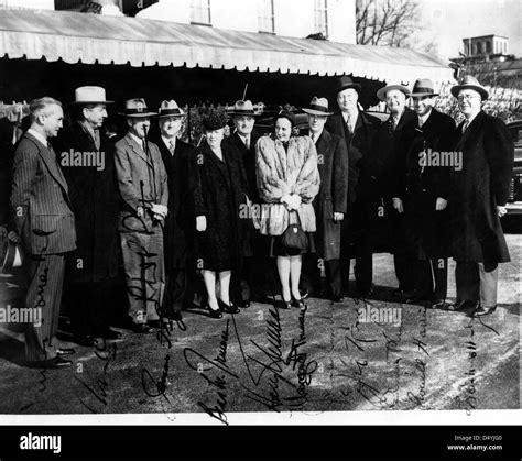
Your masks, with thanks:
[{"label": "smiling woman in light fur coat holding a dark handbag", "polygon": [[[276,257],[283,309],[303,307],[300,294],[302,254],[314,252],[315,212],[312,201],[319,191],[317,152],[308,136],[292,136],[295,116],[282,111],[275,117],[275,134],[255,144],[255,164],[261,204],[260,232],[272,235],[270,254]],[[293,212],[296,211],[296,212]],[[296,222],[307,237],[306,249],[283,244],[282,235]]]}]

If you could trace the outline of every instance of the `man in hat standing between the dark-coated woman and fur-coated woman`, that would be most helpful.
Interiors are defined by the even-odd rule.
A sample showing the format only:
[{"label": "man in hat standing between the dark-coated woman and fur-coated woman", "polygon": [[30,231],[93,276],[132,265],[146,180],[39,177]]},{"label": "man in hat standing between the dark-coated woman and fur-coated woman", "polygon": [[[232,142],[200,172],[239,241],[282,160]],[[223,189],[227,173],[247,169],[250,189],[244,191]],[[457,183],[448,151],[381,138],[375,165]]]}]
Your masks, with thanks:
[{"label": "man in hat standing between the dark-coated woman and fur-coated woman", "polygon": [[[262,112],[251,101],[236,101],[228,112],[232,117],[235,131],[226,143],[239,153],[248,182],[248,198],[252,205],[259,204],[258,184],[255,179],[255,143],[258,136],[253,132],[255,118]],[[253,229],[250,217],[242,220],[243,249],[241,267],[232,273],[231,295],[235,304],[248,308],[251,299],[263,299],[267,290],[269,260],[267,257],[268,239]]]}]

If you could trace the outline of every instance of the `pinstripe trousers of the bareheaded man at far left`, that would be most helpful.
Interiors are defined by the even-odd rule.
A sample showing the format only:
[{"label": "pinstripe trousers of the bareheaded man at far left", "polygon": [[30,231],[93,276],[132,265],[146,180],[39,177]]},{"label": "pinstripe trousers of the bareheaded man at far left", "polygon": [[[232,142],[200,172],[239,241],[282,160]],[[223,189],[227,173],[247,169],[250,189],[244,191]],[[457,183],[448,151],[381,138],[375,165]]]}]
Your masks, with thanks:
[{"label": "pinstripe trousers of the bareheaded man at far left", "polygon": [[40,325],[28,323],[24,329],[26,360],[50,360],[56,356],[65,255],[28,255],[23,268],[28,283],[24,307],[41,309]]}]

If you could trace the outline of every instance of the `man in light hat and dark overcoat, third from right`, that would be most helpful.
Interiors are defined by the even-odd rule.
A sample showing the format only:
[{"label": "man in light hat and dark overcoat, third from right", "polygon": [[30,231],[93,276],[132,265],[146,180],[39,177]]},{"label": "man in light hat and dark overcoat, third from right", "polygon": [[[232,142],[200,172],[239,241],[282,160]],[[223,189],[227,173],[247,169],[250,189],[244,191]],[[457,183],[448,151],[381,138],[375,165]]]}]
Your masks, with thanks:
[{"label": "man in light hat and dark overcoat, third from right", "polygon": [[[404,190],[406,153],[410,150],[416,113],[406,106],[410,90],[403,85],[388,85],[377,91],[387,103],[390,117],[383,121],[376,136],[376,188],[382,197],[385,233],[381,250],[393,253],[399,287],[393,294],[406,300],[414,296],[413,259],[406,241]],[[384,248],[388,246],[388,248]]]}]

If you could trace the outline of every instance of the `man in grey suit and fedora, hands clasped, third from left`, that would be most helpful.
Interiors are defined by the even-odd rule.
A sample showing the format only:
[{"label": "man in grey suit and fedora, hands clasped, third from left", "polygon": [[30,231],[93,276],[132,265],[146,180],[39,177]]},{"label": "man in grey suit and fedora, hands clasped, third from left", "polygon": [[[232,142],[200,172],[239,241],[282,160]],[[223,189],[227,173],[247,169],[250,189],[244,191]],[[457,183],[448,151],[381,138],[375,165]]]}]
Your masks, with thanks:
[{"label": "man in grey suit and fedora, hands clasped, third from left", "polygon": [[[116,143],[116,172],[122,198],[119,231],[129,298],[129,317],[138,333],[162,327],[165,286],[163,227],[168,184],[160,149],[148,140],[151,112],[144,99],[129,99],[124,111],[129,132]],[[148,321],[150,325],[148,325]]]}]

